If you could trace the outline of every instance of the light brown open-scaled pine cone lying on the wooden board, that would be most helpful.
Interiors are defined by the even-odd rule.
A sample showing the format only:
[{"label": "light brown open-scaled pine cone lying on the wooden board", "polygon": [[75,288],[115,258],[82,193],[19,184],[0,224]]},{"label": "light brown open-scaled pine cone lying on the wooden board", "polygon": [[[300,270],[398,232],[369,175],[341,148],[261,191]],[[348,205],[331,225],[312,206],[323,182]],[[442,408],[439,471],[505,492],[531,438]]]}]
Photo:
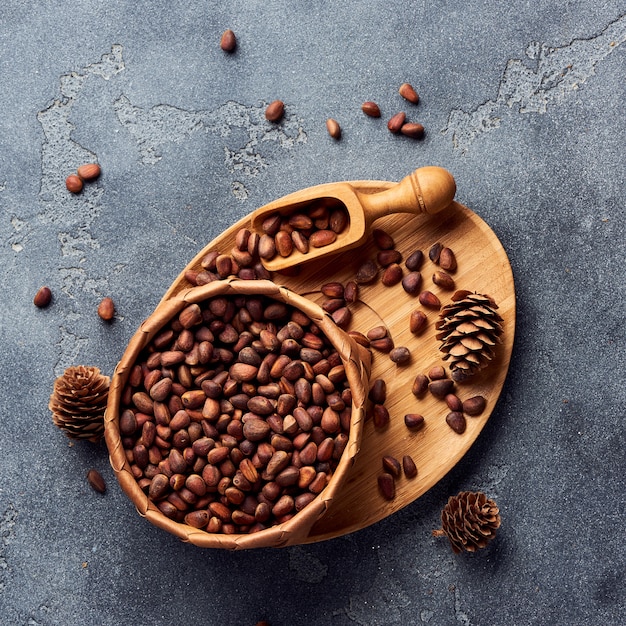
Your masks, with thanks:
[{"label": "light brown open-scaled pine cone lying on the wooden board", "polygon": [[444,361],[451,359],[451,377],[463,382],[485,367],[494,357],[494,346],[500,343],[502,317],[498,305],[487,295],[457,291],[452,303],[443,307],[435,328],[441,332],[439,349]]}]

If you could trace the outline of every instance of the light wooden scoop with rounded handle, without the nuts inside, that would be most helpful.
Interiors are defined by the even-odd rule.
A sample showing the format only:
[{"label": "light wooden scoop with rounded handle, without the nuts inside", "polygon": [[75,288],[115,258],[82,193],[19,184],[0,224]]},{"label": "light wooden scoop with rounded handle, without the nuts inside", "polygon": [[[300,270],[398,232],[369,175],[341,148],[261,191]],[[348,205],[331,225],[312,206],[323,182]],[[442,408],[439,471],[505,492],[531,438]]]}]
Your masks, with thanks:
[{"label": "light wooden scoop with rounded handle, without the nuts inside", "polygon": [[271,259],[261,259],[269,271],[280,271],[362,244],[367,239],[372,222],[379,217],[391,213],[434,215],[450,206],[455,193],[456,183],[452,174],[434,166],[420,167],[397,185],[373,194],[361,193],[349,183],[317,185],[257,209],[251,217],[252,230],[262,235],[263,222],[271,215],[305,213],[320,202],[345,208],[349,218],[348,226],[337,235],[333,243],[320,248],[309,247],[307,253],[294,248],[289,256],[283,257],[277,253]]}]

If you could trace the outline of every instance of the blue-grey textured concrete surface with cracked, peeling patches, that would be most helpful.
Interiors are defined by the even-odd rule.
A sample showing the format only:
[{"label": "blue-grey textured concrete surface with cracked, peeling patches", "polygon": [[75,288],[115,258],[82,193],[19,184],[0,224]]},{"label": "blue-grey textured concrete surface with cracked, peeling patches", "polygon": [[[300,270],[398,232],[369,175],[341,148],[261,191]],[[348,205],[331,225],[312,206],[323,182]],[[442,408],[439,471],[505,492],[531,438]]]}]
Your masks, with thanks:
[{"label": "blue-grey textured concrete surface with cracked, peeling patches", "polygon": [[[3,3],[3,624],[624,623],[626,3],[334,4]],[[234,55],[218,47],[226,28]],[[263,118],[276,98],[277,128]],[[387,131],[401,108],[423,141]],[[67,193],[92,160],[102,177]],[[425,496],[330,542],[200,550],[139,518],[104,443],[69,446],[53,426],[54,378],[112,373],[223,228],[303,187],[428,164],[502,241],[518,324],[495,412]],[[42,284],[46,310],[32,304]],[[95,314],[105,295],[112,325]],[[430,531],[463,489],[494,497],[503,524],[455,556]]]}]

